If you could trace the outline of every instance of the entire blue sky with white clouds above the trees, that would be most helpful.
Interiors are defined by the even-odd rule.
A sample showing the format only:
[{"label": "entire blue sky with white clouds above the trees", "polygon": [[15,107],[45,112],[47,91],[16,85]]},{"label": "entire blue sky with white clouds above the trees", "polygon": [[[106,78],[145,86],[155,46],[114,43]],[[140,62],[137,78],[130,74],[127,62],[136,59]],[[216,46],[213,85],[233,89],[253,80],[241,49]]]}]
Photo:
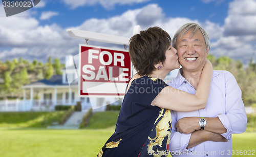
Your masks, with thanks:
[{"label": "entire blue sky with white clouds above the trees", "polygon": [[[66,30],[80,30],[124,37],[133,28],[159,26],[172,37],[185,23],[196,22],[209,34],[210,54],[248,63],[256,60],[256,0],[41,0],[34,8],[6,17],[0,5],[0,60],[23,57],[46,62],[78,54],[82,39]],[[104,47],[120,47],[89,41]]]}]

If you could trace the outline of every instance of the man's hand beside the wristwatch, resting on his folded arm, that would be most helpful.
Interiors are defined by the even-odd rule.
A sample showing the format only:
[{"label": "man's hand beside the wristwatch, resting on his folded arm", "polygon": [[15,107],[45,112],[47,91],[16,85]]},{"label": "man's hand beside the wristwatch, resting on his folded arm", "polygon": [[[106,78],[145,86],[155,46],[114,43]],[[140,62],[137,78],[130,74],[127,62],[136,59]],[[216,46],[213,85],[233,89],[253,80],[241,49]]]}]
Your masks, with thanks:
[{"label": "man's hand beside the wristwatch, resting on his folded arm", "polygon": [[184,117],[176,123],[176,130],[180,133],[188,134],[200,129],[200,117]]}]

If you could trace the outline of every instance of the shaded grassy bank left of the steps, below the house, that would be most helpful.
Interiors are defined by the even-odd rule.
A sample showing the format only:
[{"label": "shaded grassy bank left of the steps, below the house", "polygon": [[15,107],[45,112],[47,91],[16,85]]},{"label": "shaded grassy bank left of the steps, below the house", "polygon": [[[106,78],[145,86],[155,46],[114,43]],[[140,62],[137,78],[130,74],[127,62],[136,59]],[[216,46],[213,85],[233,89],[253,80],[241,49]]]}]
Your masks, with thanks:
[{"label": "shaded grassy bank left of the steps, below the house", "polygon": [[59,122],[67,111],[0,113],[0,127],[47,127]]}]

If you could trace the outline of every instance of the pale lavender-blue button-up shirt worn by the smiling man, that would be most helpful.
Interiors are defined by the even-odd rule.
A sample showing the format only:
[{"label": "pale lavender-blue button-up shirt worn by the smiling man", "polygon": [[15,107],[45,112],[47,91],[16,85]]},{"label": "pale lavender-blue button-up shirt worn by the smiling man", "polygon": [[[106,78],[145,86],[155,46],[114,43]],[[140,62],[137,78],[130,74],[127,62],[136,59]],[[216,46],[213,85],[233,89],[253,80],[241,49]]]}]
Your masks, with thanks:
[{"label": "pale lavender-blue button-up shirt worn by the smiling man", "polygon": [[[185,80],[181,73],[182,70],[179,71],[175,79],[167,84],[187,93],[195,94],[195,88]],[[247,125],[245,107],[241,96],[241,89],[230,72],[214,71],[212,73],[210,95],[205,109],[191,112],[172,111],[173,128],[169,144],[170,154],[174,157],[231,156],[231,134],[244,132]],[[226,138],[228,142],[206,141],[193,148],[186,149],[191,133],[184,134],[177,132],[175,127],[176,122],[184,117],[219,117],[220,121],[227,129],[227,132],[223,133],[222,136]]]}]

